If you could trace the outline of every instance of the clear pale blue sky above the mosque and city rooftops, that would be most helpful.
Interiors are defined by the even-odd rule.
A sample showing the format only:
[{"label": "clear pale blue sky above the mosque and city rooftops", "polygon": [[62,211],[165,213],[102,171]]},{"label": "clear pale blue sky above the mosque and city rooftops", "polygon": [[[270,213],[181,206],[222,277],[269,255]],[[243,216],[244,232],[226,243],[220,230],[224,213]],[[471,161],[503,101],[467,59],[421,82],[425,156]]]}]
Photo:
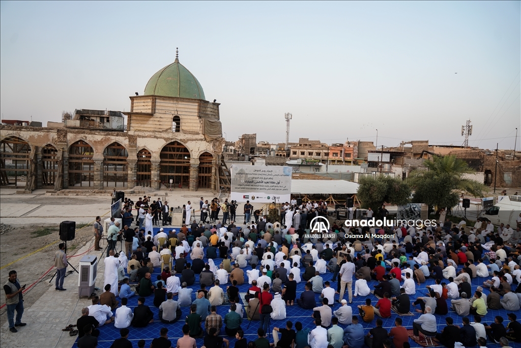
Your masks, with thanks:
[{"label": "clear pale blue sky above the mosque and city rooftops", "polygon": [[521,148],[516,2],[0,2],[2,119],[129,111],[181,64],[227,140]]}]

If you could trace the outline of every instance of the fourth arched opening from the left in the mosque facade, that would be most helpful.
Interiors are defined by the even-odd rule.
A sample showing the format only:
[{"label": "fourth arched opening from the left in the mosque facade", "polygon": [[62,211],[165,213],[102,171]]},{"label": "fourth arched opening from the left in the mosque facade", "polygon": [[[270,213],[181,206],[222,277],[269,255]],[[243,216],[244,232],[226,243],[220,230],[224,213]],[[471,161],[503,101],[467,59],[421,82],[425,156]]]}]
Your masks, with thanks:
[{"label": "fourth arched opening from the left in the mosque facade", "polygon": [[113,142],[103,151],[103,186],[127,186],[128,152],[118,142]]}]

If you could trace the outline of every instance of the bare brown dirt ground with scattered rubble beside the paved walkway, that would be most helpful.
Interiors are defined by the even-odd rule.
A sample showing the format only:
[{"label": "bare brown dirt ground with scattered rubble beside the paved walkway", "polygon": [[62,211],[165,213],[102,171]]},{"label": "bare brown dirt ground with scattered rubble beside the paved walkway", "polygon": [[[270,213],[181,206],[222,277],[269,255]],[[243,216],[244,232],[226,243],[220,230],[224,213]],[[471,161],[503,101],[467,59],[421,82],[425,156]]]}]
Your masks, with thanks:
[{"label": "bare brown dirt ground with scattered rubble beside the paved walkway", "polygon": [[[77,201],[75,201],[76,203]],[[80,249],[86,242],[93,238],[92,224],[76,229],[76,236],[73,241],[67,243],[67,255],[73,255],[75,250]],[[48,244],[58,241],[57,227],[44,226],[24,226],[15,227],[13,230],[5,232],[0,236],[0,267],[4,267],[24,255],[30,254]],[[58,248],[58,244],[51,245],[38,253],[16,262],[0,270],[0,279],[7,279],[9,271],[16,270],[20,285],[34,283],[40,276],[54,265],[53,257]],[[49,280],[54,275],[54,271],[49,272],[42,280],[29,289],[24,294],[24,307],[29,308],[37,301],[42,294],[48,290],[49,286],[54,286],[54,280]],[[71,289],[72,290],[72,289]],[[72,290],[74,291],[74,290]],[[0,305],[5,303],[5,296],[0,296]],[[4,315],[5,307],[0,310],[0,325],[7,321]]]}]

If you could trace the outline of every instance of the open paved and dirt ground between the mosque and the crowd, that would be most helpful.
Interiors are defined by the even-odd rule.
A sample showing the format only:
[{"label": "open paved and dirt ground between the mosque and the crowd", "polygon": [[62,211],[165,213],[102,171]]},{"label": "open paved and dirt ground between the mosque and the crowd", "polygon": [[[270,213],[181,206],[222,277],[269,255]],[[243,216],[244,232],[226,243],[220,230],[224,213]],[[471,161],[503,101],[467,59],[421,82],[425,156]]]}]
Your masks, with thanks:
[{"label": "open paved and dirt ground between the mosque and the crowd", "polygon": [[[209,191],[157,191],[146,194],[153,199],[161,197],[168,200],[170,206],[182,206],[191,200],[194,207],[199,207],[201,196],[212,199],[218,194]],[[143,195],[131,194],[129,197],[137,201]],[[0,189],[0,218],[3,224],[15,227],[15,230],[5,232],[0,244],[0,279],[5,282],[8,272],[16,269],[18,277],[27,286],[36,284],[24,294],[23,322],[28,325],[20,328],[18,333],[8,330],[5,307],[0,309],[0,345],[5,347],[41,347],[41,348],[69,348],[76,337],[70,337],[68,332],[61,329],[69,323],[76,323],[81,316],[81,308],[90,305],[86,297],[78,297],[78,274],[71,273],[66,277],[65,292],[54,290],[54,281],[49,283],[54,271],[45,272],[53,265],[54,250],[58,241],[57,228],[64,220],[76,221],[77,225],[89,224],[83,230],[77,231],[75,241],[69,242],[68,254],[80,255],[70,258],[70,264],[78,268],[79,259],[93,245],[93,239],[89,237],[92,232],[92,222],[97,215],[109,212],[110,194],[96,196],[49,196],[46,190],[35,190],[30,195],[16,194],[16,189]],[[108,215],[107,215],[108,216]],[[48,228],[47,235],[35,237],[34,232]],[[45,231],[44,231],[45,232]],[[52,244],[40,250],[46,245]],[[89,251],[87,254],[101,256],[100,252]],[[97,284],[103,283],[104,256],[98,265]],[[14,263],[13,263],[14,262]],[[9,263],[12,263],[9,265]],[[9,265],[9,266],[7,266]],[[40,279],[40,277],[43,278]],[[40,281],[38,281],[40,279]],[[101,293],[101,291],[100,291]],[[2,295],[0,304],[5,303]]]}]

